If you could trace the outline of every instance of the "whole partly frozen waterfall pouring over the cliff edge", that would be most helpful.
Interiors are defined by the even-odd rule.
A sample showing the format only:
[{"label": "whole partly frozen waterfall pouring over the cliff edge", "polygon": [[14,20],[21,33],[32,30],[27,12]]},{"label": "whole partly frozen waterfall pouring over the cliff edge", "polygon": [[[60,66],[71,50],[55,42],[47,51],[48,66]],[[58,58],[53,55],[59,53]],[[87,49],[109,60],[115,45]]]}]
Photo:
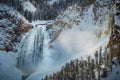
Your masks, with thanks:
[{"label": "whole partly frozen waterfall pouring over the cliff edge", "polygon": [[43,59],[48,40],[46,24],[34,25],[34,28],[24,35],[17,52],[17,67],[24,71],[23,73],[34,70]]}]

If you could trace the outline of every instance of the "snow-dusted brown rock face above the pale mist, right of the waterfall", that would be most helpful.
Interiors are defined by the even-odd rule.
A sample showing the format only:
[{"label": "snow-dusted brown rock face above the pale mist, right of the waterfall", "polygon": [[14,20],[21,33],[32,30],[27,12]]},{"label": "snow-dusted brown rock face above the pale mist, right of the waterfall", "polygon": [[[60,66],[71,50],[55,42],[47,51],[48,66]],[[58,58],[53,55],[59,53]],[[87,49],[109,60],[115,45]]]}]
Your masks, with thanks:
[{"label": "snow-dusted brown rock face above the pale mist, right of the waterfall", "polygon": [[[103,23],[105,23],[105,21],[109,20],[108,17],[106,18],[106,15],[108,16],[111,13],[113,5],[114,2],[110,0],[90,0],[68,7],[65,12],[56,18],[52,25],[47,26],[47,31],[50,33],[50,42],[54,42],[62,31],[72,28],[79,28],[81,32],[84,32],[89,27],[93,28],[97,26],[98,30],[94,32],[98,38],[100,38],[101,35],[109,34],[111,27],[108,27],[108,29],[104,31],[101,30],[101,26],[104,25]],[[84,20],[86,23],[84,23]],[[109,20],[109,25],[112,24],[110,23],[111,20]]]}]

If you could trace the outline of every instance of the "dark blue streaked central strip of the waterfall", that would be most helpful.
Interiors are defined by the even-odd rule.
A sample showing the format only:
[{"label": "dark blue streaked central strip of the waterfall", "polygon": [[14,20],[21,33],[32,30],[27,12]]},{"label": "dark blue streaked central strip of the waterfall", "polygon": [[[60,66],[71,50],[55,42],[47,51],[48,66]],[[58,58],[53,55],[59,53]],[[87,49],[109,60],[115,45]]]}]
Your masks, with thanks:
[{"label": "dark blue streaked central strip of the waterfall", "polygon": [[43,54],[43,44],[44,44],[44,32],[42,33],[42,27],[41,28],[36,28],[36,35],[34,37],[34,47],[33,47],[33,53],[34,55],[32,56],[32,61],[34,63],[38,62],[42,58]]}]

